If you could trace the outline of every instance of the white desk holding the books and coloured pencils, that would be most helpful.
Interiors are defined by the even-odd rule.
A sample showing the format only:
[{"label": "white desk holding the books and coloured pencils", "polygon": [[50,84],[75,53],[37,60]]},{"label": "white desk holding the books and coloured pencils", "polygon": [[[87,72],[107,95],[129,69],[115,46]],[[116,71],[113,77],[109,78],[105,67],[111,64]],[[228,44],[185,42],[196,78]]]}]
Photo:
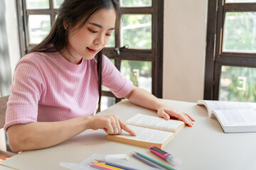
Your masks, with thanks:
[{"label": "white desk holding the books and coloured pencils", "polygon": [[[164,147],[166,152],[183,159],[183,164],[173,167],[181,170],[256,169],[256,133],[225,134],[218,120],[208,118],[203,106],[181,101],[163,101],[169,106],[190,113],[196,119],[193,128],[184,128]],[[117,103],[100,114],[118,114],[125,121],[137,113],[155,115],[154,111],[134,106],[129,101]],[[21,170],[58,170],[65,169],[59,166],[60,162],[80,163],[93,153],[129,154],[133,151],[164,162],[144,147],[106,140],[103,130],[86,130],[60,145],[22,152],[2,164]],[[133,157],[129,161],[139,162]]]}]

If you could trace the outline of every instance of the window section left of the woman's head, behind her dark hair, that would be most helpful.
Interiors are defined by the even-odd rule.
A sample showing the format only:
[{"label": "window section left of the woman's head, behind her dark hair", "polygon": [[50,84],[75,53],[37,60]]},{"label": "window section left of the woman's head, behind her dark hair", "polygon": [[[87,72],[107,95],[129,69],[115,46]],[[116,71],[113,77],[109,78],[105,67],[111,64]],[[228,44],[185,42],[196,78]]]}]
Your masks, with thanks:
[{"label": "window section left of the woman's head, behind her dark hair", "polygon": [[16,0],[21,56],[46,37],[62,3],[63,0]]}]

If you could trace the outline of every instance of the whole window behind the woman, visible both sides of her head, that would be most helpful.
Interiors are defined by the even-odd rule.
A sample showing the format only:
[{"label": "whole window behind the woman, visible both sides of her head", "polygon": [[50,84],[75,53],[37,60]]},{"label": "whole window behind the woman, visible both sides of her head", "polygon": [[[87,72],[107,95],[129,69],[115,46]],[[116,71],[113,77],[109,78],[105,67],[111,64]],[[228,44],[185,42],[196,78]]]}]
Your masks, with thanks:
[{"label": "whole window behind the woman, visible both sides of her head", "polygon": [[[21,50],[26,52],[48,34],[63,0],[17,0]],[[112,33],[104,53],[139,86],[162,97],[164,0],[119,0],[121,29]],[[102,108],[120,101],[102,86]]]}]

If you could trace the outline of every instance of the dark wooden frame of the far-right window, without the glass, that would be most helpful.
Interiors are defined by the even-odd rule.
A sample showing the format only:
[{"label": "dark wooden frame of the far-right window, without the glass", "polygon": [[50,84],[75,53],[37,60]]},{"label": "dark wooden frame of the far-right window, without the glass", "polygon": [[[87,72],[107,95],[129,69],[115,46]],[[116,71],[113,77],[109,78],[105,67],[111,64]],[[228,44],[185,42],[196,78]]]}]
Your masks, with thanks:
[{"label": "dark wooden frame of the far-right window, without the glass", "polygon": [[256,67],[256,53],[223,52],[223,28],[226,12],[256,11],[256,3],[225,3],[208,0],[208,24],[205,67],[205,100],[217,100],[221,67]]}]

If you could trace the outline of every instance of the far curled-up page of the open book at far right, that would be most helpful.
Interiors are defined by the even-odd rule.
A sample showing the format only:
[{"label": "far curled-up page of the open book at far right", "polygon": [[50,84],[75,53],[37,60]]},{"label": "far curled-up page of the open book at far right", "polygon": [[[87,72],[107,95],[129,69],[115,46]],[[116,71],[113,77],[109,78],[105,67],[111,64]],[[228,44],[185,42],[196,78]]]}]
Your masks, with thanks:
[{"label": "far curled-up page of the open book at far right", "polygon": [[256,103],[249,102],[198,100],[197,103],[206,106],[209,116],[213,110],[256,109]]}]

